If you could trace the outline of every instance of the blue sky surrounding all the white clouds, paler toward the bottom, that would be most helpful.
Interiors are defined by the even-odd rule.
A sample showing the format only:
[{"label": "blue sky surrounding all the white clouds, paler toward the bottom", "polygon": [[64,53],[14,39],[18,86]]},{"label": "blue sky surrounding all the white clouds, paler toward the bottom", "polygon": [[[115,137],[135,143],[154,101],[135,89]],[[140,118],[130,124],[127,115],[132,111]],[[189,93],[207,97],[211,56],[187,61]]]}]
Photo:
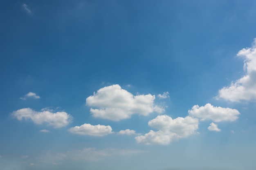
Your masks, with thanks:
[{"label": "blue sky surrounding all the white clouds, paler toward the bottom", "polygon": [[[0,155],[7,156],[0,158],[0,164],[8,169],[22,162],[22,155],[40,157],[47,150],[95,147],[149,150],[149,154],[115,155],[101,163],[71,161],[64,166],[78,165],[76,169],[81,170],[104,165],[111,170],[123,165],[138,170],[255,168],[251,160],[255,152],[250,149],[255,142],[255,104],[213,99],[220,88],[243,75],[243,60],[236,53],[251,46],[256,37],[255,9],[254,0],[2,0]],[[166,114],[173,118],[184,117],[193,105],[208,102],[236,108],[241,116],[236,123],[223,123],[220,134],[207,130],[211,122],[200,123],[200,135],[168,146],[143,146],[133,137],[84,137],[67,132],[83,123],[111,125],[114,131],[126,127],[143,133],[150,130],[147,122],[156,114],[120,122],[91,117],[85,99],[111,84],[124,88],[131,84],[126,89],[133,94],[168,91]],[[41,99],[20,100],[29,91]],[[74,117],[72,124],[53,129],[10,116],[20,108],[49,106],[65,109]],[[231,126],[238,131],[236,136],[229,132]],[[38,132],[45,128],[52,133]]]}]

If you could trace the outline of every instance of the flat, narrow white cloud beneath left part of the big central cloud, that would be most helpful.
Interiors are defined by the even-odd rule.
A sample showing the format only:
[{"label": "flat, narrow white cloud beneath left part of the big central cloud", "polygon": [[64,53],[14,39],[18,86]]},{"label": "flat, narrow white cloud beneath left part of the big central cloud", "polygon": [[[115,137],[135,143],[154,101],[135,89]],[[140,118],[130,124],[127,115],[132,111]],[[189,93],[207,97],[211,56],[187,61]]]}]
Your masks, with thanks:
[{"label": "flat, narrow white cloud beneath left part of the big central cloud", "polygon": [[91,124],[83,124],[81,126],[75,126],[70,128],[69,131],[71,133],[76,133],[79,135],[91,135],[91,136],[105,136],[109,135],[112,132],[111,126],[105,125],[91,125]]}]

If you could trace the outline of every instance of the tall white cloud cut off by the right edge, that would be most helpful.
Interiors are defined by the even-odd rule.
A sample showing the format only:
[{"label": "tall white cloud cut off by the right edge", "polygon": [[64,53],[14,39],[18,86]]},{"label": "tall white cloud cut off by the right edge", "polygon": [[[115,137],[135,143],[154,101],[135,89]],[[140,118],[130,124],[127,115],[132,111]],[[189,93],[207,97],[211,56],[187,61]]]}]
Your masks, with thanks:
[{"label": "tall white cloud cut off by the right edge", "polygon": [[231,102],[256,101],[256,39],[251,48],[242,49],[237,54],[244,57],[245,75],[232,82],[230,86],[219,90],[216,99],[222,98]]}]

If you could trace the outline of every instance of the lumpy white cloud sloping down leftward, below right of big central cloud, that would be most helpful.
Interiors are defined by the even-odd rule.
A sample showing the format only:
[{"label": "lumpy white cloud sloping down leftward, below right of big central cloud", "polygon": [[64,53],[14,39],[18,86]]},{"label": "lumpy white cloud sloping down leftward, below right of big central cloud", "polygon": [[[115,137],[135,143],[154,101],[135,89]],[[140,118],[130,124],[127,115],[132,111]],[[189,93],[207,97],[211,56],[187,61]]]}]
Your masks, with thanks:
[{"label": "lumpy white cloud sloping down leftward, below right of big central cloud", "polygon": [[190,116],[172,119],[168,115],[159,115],[148,121],[148,126],[158,131],[150,130],[145,135],[135,137],[137,143],[167,145],[171,141],[193,135],[198,129],[198,119]]}]

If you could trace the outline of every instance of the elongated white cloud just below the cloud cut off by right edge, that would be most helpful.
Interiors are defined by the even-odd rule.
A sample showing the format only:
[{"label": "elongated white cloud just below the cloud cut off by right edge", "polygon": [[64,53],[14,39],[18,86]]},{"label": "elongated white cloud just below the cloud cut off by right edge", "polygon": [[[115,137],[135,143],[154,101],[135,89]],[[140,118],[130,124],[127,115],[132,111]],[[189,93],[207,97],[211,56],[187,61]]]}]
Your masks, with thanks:
[{"label": "elongated white cloud just below the cloud cut off by right edge", "polygon": [[231,108],[214,107],[211,104],[199,107],[195,105],[189,110],[189,115],[200,118],[201,121],[213,120],[220,121],[235,121],[240,115],[239,111]]}]

